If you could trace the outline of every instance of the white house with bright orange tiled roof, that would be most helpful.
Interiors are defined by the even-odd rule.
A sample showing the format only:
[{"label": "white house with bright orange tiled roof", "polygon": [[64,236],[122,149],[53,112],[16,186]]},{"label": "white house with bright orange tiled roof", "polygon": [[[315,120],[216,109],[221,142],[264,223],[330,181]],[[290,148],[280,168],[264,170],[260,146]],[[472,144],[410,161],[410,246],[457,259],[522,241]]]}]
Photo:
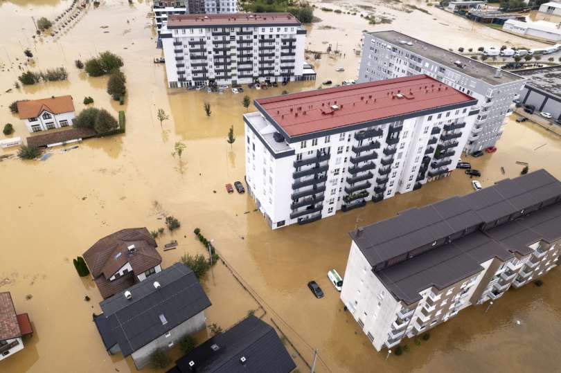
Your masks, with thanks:
[{"label": "white house with bright orange tiled roof", "polygon": [[69,127],[75,117],[71,95],[19,101],[17,112],[30,132]]}]

